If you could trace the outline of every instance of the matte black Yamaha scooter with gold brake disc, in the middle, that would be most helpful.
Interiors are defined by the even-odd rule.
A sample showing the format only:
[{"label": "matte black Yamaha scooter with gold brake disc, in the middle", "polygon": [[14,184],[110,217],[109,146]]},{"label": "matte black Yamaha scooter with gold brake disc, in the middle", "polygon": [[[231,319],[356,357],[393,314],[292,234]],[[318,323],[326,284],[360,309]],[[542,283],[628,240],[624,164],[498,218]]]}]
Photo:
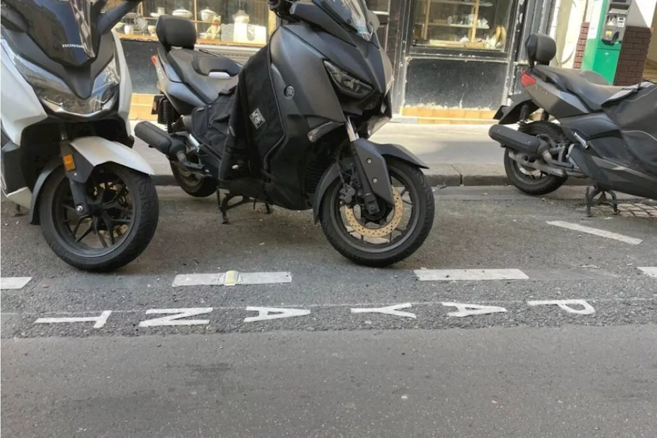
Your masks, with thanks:
[{"label": "matte black Yamaha scooter with gold brake disc, in the middle", "polygon": [[135,135],[170,158],[187,193],[217,193],[224,222],[256,200],[312,208],[350,260],[403,260],[432,228],[434,197],[418,157],[368,140],[392,116],[378,18],[362,0],[269,6],[284,24],[243,67],[194,50],[191,21],[160,16],[154,111],[168,132],[141,122]]}]

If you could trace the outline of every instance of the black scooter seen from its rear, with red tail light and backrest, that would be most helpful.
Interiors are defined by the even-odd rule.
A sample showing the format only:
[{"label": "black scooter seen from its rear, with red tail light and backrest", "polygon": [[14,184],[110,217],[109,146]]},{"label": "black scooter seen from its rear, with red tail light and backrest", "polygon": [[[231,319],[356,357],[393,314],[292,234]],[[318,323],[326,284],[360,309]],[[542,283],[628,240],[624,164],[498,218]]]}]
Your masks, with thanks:
[{"label": "black scooter seen from its rear, with red tail light and backrest", "polygon": [[[545,195],[568,177],[591,178],[589,216],[600,204],[618,211],[614,191],[657,198],[657,86],[616,87],[589,70],[549,66],[556,43],[546,35],[532,34],[526,44],[530,67],[520,77],[523,91],[497,111],[499,124],[489,130],[506,148],[509,181]],[[538,110],[540,120],[530,120]],[[515,123],[518,130],[502,126]]]}]

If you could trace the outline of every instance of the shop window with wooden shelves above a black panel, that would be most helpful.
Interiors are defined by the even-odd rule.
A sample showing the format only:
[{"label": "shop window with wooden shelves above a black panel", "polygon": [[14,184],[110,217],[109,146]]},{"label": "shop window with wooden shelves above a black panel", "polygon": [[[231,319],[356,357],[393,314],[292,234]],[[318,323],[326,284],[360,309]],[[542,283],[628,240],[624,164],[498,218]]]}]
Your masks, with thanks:
[{"label": "shop window with wooden shelves above a black panel", "polygon": [[417,0],[413,44],[505,51],[512,0]]}]

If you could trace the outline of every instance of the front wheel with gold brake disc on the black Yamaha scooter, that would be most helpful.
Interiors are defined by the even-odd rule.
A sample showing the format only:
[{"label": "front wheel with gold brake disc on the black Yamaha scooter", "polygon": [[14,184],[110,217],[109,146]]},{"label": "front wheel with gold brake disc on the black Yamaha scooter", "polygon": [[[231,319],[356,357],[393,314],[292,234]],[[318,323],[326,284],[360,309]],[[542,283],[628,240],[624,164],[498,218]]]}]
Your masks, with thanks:
[{"label": "front wheel with gold brake disc on the black Yamaha scooter", "polygon": [[[434,224],[434,194],[419,168],[388,159],[395,206],[381,205],[378,217],[365,207],[349,207],[341,199],[342,182],[326,191],[320,220],[329,243],[349,260],[382,268],[412,255],[424,243]],[[382,203],[381,203],[382,204]]]}]

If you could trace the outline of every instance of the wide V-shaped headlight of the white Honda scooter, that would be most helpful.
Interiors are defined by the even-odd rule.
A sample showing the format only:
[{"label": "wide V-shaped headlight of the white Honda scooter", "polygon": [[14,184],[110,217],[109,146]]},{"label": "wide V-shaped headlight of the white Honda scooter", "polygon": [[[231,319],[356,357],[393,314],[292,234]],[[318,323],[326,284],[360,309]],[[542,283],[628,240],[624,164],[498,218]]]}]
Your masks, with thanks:
[{"label": "wide V-shaped headlight of the white Honda scooter", "polygon": [[116,58],[112,58],[94,80],[91,95],[81,99],[60,78],[16,55],[5,39],[0,39],[0,44],[23,78],[32,85],[41,103],[53,112],[92,116],[114,105],[120,83]]}]

